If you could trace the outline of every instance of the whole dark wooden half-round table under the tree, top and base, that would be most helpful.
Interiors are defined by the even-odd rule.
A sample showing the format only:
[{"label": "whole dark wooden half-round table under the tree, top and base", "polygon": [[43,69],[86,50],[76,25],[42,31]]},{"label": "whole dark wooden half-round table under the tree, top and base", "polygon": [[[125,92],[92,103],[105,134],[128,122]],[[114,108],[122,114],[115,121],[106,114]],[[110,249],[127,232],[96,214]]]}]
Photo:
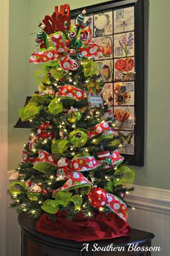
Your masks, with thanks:
[{"label": "whole dark wooden half-round table under the tree, top and base", "polygon": [[[117,239],[107,239],[94,242],[74,242],[67,239],[57,239],[53,236],[46,236],[35,231],[35,221],[27,215],[20,215],[19,225],[22,228],[22,256],[148,256],[151,252],[130,251],[129,245],[135,244],[138,247],[151,247],[151,239],[154,235],[145,231],[131,229],[130,236],[120,237]],[[87,244],[89,251],[84,249]],[[97,244],[94,246],[94,244]],[[101,251],[107,246],[112,245],[112,248],[121,249],[121,251]],[[136,245],[136,246],[137,246]],[[99,251],[95,251],[96,248]],[[108,247],[107,247],[108,248]],[[125,251],[122,249],[125,248]],[[131,247],[132,248],[132,247]],[[94,249],[94,250],[92,250]]]}]

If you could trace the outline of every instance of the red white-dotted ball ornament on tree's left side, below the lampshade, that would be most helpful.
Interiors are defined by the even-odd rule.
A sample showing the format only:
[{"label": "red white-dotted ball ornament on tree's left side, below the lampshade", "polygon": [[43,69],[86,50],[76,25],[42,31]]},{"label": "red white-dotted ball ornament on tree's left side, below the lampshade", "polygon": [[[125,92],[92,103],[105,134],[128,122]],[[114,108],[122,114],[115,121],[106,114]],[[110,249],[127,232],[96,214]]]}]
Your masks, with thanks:
[{"label": "red white-dotted ball ornament on tree's left side, below the lampshade", "polygon": [[37,128],[37,136],[40,139],[53,139],[54,132],[50,131],[50,129],[53,129],[53,126],[49,122],[41,124],[40,127]]}]

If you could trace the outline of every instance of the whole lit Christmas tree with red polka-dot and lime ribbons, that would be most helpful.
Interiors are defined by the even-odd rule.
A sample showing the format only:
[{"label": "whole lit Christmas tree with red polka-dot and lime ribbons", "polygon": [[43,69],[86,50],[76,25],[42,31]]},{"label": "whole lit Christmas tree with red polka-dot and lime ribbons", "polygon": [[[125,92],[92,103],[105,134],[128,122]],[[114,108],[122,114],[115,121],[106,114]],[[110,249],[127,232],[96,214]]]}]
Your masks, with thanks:
[{"label": "whole lit Christmas tree with red polka-dot and lime ribbons", "polygon": [[[115,213],[127,220],[125,193],[134,172],[120,155],[115,119],[102,98],[102,77],[94,58],[104,49],[92,41],[86,11],[71,26],[68,4],[40,23],[37,49],[38,90],[19,109],[32,131],[24,144],[19,177],[10,184],[12,208],[39,218],[58,212],[73,219],[77,213]],[[105,73],[104,73],[105,72]]]}]

